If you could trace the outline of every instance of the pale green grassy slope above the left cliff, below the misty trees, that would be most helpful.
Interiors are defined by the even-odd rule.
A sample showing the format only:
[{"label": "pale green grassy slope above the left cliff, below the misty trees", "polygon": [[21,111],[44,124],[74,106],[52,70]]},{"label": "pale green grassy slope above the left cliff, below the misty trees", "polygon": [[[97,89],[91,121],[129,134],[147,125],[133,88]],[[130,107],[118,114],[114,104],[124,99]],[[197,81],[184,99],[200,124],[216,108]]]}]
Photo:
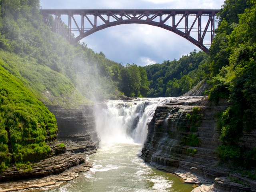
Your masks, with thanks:
[{"label": "pale green grassy slope above the left cliff, below the misty trees", "polygon": [[0,64],[17,77],[44,104],[78,106],[92,104],[74,87],[63,74],[34,58],[21,58],[16,54],[0,50]]}]

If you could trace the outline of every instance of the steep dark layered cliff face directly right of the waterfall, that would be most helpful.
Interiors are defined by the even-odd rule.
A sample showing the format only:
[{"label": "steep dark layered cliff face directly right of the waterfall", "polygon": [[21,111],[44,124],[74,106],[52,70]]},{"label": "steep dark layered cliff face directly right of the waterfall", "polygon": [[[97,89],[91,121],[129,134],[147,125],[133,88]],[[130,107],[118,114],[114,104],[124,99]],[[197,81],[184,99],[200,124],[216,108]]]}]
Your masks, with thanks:
[{"label": "steep dark layered cliff face directly right of the waterfall", "polygon": [[[188,117],[192,116],[195,106],[200,109],[199,118],[191,128]],[[210,106],[204,97],[174,98],[158,106],[148,124],[142,158],[169,172],[189,171],[212,179],[226,176],[225,170],[214,170],[219,145],[216,115],[226,107],[226,104]]]}]

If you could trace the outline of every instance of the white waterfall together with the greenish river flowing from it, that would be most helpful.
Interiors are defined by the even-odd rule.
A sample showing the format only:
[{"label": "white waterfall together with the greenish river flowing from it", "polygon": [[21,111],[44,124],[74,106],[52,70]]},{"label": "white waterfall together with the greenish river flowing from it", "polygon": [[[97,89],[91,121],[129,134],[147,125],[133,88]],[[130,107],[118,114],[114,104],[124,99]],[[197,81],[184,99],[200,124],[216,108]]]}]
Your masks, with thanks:
[{"label": "white waterfall together with the greenish river flowing from it", "polygon": [[96,109],[101,139],[96,154],[88,157],[93,167],[78,178],[51,192],[190,192],[177,176],[146,164],[140,153],[147,135],[147,123],[162,99],[132,102],[109,101]]}]

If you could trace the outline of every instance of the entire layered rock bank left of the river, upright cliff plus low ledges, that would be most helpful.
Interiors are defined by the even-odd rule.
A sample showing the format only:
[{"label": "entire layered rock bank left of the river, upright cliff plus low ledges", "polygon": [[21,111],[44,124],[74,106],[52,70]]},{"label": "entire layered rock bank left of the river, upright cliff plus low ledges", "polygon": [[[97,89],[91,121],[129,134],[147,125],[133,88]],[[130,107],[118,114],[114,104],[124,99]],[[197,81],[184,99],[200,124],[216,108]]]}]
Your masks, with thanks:
[{"label": "entire layered rock bank left of the river, upright cliff plus low ledges", "polygon": [[[96,152],[99,143],[95,128],[93,106],[82,106],[80,108],[48,106],[48,108],[56,116],[59,130],[58,143],[64,143],[66,146],[63,147],[62,145],[62,147],[59,147],[60,145],[56,142],[48,143],[52,149],[52,157],[30,163],[32,169],[29,169],[27,166],[24,166],[23,169],[12,166],[5,170],[0,174],[0,182],[20,179],[28,180],[24,181],[24,183],[21,182],[21,184],[8,182],[6,186],[10,186],[8,187],[9,190],[4,190],[6,188],[4,183],[0,184],[0,192],[25,189],[34,190],[48,185],[54,187],[64,181],[77,177],[78,172],[88,170],[88,166],[83,168],[80,165],[85,163],[87,155]],[[76,171],[65,176],[66,170],[71,168]],[[59,177],[53,176],[54,181],[52,182],[48,179],[52,174],[60,175]],[[40,178],[37,180],[38,183],[33,182],[34,178]]]}]

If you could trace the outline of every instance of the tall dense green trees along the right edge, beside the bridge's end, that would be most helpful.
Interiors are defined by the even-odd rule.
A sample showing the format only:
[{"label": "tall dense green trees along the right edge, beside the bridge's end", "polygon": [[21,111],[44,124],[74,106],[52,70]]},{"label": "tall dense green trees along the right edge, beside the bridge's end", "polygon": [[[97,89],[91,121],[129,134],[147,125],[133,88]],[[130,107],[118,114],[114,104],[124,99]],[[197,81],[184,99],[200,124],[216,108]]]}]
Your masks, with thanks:
[{"label": "tall dense green trees along the right edge, beside the bridge's end", "polygon": [[210,48],[210,100],[227,99],[230,107],[218,117],[221,160],[255,167],[252,150],[240,142],[256,128],[256,2],[226,0]]}]

